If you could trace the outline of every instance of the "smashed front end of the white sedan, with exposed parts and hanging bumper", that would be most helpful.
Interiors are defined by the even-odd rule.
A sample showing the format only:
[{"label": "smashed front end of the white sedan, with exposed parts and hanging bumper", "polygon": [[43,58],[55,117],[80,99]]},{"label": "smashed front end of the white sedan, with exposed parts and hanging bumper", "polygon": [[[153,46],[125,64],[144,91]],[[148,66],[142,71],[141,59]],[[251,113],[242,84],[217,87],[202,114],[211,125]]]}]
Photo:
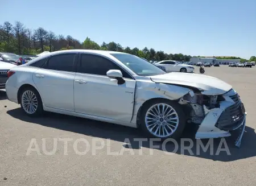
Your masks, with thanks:
[{"label": "smashed front end of the white sedan, with exposed parts and hanging bumper", "polygon": [[187,113],[187,122],[199,126],[196,139],[223,138],[239,131],[235,145],[240,147],[245,130],[246,112],[234,89],[221,95],[205,95],[204,91],[190,90],[179,99]]}]

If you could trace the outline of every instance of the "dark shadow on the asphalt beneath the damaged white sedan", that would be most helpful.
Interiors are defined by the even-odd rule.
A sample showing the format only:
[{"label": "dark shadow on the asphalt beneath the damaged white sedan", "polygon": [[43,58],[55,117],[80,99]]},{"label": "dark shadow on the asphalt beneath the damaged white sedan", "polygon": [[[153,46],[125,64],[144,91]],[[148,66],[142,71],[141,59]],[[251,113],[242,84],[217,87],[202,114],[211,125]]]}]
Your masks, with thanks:
[{"label": "dark shadow on the asphalt beneath the damaged white sedan", "polygon": [[[7,111],[7,114],[11,115],[16,119],[20,119],[25,122],[31,122],[38,125],[52,127],[55,129],[72,131],[73,133],[79,133],[88,135],[91,137],[112,139],[118,142],[125,142],[126,139],[130,140],[130,144],[123,144],[125,148],[140,149],[151,148],[150,140],[142,143],[139,146],[139,142],[135,141],[134,138],[144,138],[141,131],[131,127],[125,127],[121,125],[114,125],[112,123],[98,122],[90,119],[77,118],[68,115],[56,114],[56,113],[45,113],[43,117],[40,118],[30,118],[20,108]],[[199,148],[199,142],[195,139],[195,134],[197,127],[189,126],[184,130],[181,139],[177,140],[177,144],[168,142],[166,146],[162,146],[161,142],[155,142],[154,145],[159,144],[159,148],[155,148],[159,151],[164,151],[164,153],[171,152],[176,154],[182,154],[187,156],[195,156],[197,158],[212,159],[222,162],[230,162],[238,159],[245,159],[256,156],[256,134],[255,130],[251,127],[246,126],[246,131],[243,135],[241,147],[237,148],[234,146],[234,141],[232,138],[226,138],[226,144],[228,146],[228,151],[225,150],[225,143],[223,139],[212,139],[213,143],[208,148],[207,151],[203,151],[203,148]],[[185,142],[182,140],[185,139]],[[189,142],[190,140],[190,142]],[[201,140],[204,146],[209,142],[209,139]],[[184,144],[182,146],[182,144]],[[193,145],[190,149],[184,150],[182,147],[189,147]],[[218,154],[218,150],[220,153]],[[183,151],[184,150],[184,151]],[[212,150],[212,151],[211,151]],[[230,154],[229,154],[230,152]]]}]

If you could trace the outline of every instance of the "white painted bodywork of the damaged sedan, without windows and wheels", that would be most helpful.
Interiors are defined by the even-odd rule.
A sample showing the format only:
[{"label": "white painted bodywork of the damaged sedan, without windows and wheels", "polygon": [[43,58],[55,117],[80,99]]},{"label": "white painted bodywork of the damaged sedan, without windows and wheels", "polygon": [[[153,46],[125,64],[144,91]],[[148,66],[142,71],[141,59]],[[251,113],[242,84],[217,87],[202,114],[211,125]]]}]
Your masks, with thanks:
[{"label": "white painted bodywork of the damaged sedan, without windows and wheels", "polygon": [[[47,56],[74,51],[104,56],[125,69],[134,79],[124,78],[125,84],[118,85],[116,79],[108,76],[28,66]],[[109,53],[115,52],[58,51],[39,56],[27,64],[14,65],[11,70],[15,73],[6,82],[7,97],[18,104],[18,90],[22,85],[28,84],[38,90],[43,109],[46,111],[138,127],[139,110],[148,100],[179,100],[189,92],[193,93],[192,88],[199,89],[201,94],[205,95],[221,95],[232,89],[231,85],[206,75],[171,72],[157,76],[138,76]],[[196,133],[196,138],[219,138],[230,135],[228,131],[222,131],[214,126],[222,111],[234,104],[229,95],[224,97],[225,101],[221,103],[220,108],[204,108],[207,114]]]}]

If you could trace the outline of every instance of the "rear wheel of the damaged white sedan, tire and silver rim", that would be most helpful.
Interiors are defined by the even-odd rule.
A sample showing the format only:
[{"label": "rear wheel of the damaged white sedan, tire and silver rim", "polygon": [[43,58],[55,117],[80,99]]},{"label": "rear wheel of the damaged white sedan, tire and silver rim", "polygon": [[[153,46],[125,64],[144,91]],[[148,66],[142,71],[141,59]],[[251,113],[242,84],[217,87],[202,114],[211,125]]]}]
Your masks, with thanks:
[{"label": "rear wheel of the damaged white sedan, tire and silver rim", "polygon": [[[31,87],[24,88],[19,95],[19,100],[20,100],[20,106],[22,110],[24,111],[24,113],[26,113],[30,117],[39,117],[40,115],[43,114],[42,100],[41,100],[40,94],[35,88],[31,88]],[[28,105],[27,100],[34,100],[34,101],[30,101],[31,104],[34,103],[34,106],[32,106],[32,108],[34,109],[30,110],[29,108],[31,108],[31,106],[30,107],[28,106],[28,108],[26,108],[26,105]],[[35,106],[36,104],[37,106]]]}]

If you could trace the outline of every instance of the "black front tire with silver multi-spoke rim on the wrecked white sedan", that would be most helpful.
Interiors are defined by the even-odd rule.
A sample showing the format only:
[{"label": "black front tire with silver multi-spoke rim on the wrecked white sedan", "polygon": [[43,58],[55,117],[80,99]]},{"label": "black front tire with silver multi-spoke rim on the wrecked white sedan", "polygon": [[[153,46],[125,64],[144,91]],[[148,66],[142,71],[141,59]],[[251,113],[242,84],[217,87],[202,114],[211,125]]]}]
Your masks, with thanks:
[{"label": "black front tire with silver multi-spoke rim on the wrecked white sedan", "polygon": [[[150,111],[151,109],[157,108],[158,105],[160,108],[160,113],[162,113],[163,105],[164,105],[164,108],[168,108],[168,109],[172,108],[173,109],[173,111],[170,111],[168,109],[166,111],[164,111],[164,114],[166,114],[166,113],[170,114],[169,113],[169,111],[170,111],[171,115],[173,117],[175,117],[175,118],[177,117],[177,119],[169,118],[172,121],[174,121],[174,122],[171,122],[173,126],[169,125],[170,120],[168,122],[169,124],[167,123],[168,117],[164,118],[164,115],[160,115],[160,114],[156,113],[155,110],[154,110],[155,116],[148,114],[149,112],[151,112]],[[156,118],[156,116],[157,116],[156,114],[158,114],[158,118]],[[156,122],[160,122],[160,123],[156,123],[155,125],[153,125],[154,123],[152,124],[152,122],[154,122],[154,121],[150,122],[151,119],[148,119],[150,117],[155,118]],[[170,115],[169,115],[169,117],[170,117]],[[177,139],[177,138],[180,138],[181,134],[183,133],[184,127],[185,127],[185,114],[184,114],[183,110],[181,109],[181,106],[174,101],[154,100],[154,101],[147,102],[146,105],[143,105],[141,117],[139,118],[139,123],[140,123],[140,127],[141,127],[143,133],[148,138],[160,138],[161,140],[168,139],[168,138]],[[151,126],[153,125],[153,127],[150,127],[150,125]],[[160,135],[154,134],[154,132],[156,132],[156,129],[159,129],[159,127],[160,127]],[[164,130],[164,127],[166,127],[166,130]],[[170,128],[173,129],[173,131]],[[152,131],[150,131],[150,129]],[[161,131],[161,129],[162,129],[162,131]],[[163,132],[163,130],[164,130],[164,132]],[[169,134],[167,132],[169,132]]]}]

